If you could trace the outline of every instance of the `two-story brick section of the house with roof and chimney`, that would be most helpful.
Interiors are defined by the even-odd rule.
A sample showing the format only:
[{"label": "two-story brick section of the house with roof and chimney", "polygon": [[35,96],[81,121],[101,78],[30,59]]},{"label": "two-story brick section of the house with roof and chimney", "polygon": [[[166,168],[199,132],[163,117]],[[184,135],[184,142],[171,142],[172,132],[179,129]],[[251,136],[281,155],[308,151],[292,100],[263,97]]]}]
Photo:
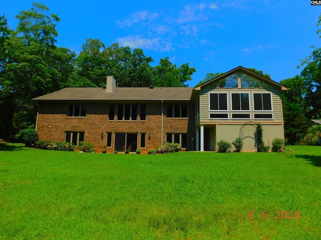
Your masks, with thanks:
[{"label": "two-story brick section of the house with roof and chimney", "polygon": [[[166,141],[195,150],[197,93],[192,87],[115,87],[107,77],[104,88],[63,88],[34,98],[38,103],[36,130],[40,139],[86,140],[95,150],[123,151],[132,145],[146,153]],[[194,145],[194,146],[193,146]]]}]

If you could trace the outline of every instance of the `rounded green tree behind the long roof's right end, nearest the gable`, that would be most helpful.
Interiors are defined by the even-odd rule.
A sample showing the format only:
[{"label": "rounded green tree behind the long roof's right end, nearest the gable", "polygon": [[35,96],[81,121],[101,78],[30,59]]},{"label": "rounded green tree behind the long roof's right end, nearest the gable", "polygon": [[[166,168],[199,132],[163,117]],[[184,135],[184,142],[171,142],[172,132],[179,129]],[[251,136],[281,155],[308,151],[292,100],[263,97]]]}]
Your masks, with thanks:
[{"label": "rounded green tree behind the long roof's right end, nearest the gable", "polygon": [[195,67],[190,67],[189,63],[184,63],[180,67],[173,64],[169,57],[159,60],[159,65],[153,69],[154,86],[187,86],[186,81],[192,79],[192,74],[196,72]]}]

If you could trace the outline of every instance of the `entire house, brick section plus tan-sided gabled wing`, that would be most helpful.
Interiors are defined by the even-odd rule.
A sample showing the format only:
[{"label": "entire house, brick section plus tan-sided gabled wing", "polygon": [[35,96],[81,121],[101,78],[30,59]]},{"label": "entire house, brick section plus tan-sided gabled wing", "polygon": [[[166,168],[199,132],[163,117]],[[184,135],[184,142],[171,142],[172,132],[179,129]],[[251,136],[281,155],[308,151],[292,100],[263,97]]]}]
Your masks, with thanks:
[{"label": "entire house, brick section plus tan-sided gabled wing", "polygon": [[255,151],[257,122],[267,134],[284,139],[280,93],[287,88],[242,66],[197,88],[115,87],[64,88],[34,98],[40,139],[85,140],[95,150],[123,151],[132,145],[146,153],[170,141],[183,150],[216,150],[217,142],[241,136],[244,151]]}]

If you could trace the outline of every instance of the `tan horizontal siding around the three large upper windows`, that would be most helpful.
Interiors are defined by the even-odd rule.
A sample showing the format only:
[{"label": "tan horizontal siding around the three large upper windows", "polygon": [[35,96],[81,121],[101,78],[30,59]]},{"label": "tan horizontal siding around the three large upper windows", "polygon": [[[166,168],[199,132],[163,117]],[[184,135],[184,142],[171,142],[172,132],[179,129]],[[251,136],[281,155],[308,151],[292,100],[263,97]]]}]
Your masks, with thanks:
[{"label": "tan horizontal siding around the three large upper windows", "polygon": [[[282,102],[280,97],[280,90],[276,88],[202,88],[200,91],[200,123],[203,122],[234,122],[240,121],[235,119],[229,120],[210,120],[209,119],[209,93],[210,92],[227,92],[228,93],[228,104],[229,104],[229,117],[231,118],[231,92],[248,92],[250,93],[250,109],[251,109],[251,120],[253,120],[253,92],[272,92],[272,103],[273,103],[273,120],[255,120],[257,122],[283,122],[282,114]],[[242,121],[242,120],[241,120]],[[244,122],[249,120],[244,120]]]}]

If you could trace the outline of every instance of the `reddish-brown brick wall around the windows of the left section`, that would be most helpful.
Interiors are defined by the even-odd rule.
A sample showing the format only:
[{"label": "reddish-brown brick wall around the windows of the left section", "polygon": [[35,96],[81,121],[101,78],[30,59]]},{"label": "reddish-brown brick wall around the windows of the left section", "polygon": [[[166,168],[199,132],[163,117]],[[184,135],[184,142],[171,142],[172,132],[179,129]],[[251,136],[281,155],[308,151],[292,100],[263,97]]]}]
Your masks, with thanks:
[{"label": "reddish-brown brick wall around the windows of the left section", "polygon": [[[112,145],[107,152],[114,150],[114,133],[146,133],[146,147],[140,148],[140,137],[137,148],[146,153],[150,148],[156,148],[162,142],[162,102],[146,103],[146,120],[108,120],[108,103],[86,103],[85,117],[67,117],[68,103],[40,103],[37,131],[40,139],[65,141],[66,131],[84,131],[85,141],[95,144],[96,152],[106,144],[107,132],[112,132]],[[163,142],[166,133],[188,133],[187,150],[196,149],[195,109],[194,103],[188,105],[188,118],[167,118],[164,104]],[[103,132],[103,137],[101,137]],[[150,132],[150,135],[149,135]],[[192,148],[192,137],[193,148]]]}]

